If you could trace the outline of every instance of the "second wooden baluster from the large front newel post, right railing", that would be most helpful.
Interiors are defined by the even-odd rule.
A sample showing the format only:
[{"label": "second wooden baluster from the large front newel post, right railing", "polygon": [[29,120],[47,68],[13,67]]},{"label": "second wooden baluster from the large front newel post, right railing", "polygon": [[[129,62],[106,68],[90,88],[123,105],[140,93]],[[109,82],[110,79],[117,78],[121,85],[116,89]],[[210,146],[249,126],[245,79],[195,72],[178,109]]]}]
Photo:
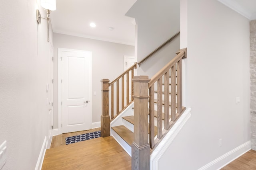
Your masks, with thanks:
[{"label": "second wooden baluster from the large front newel post, right railing", "polygon": [[162,107],[163,107],[163,81],[162,77],[157,80],[157,137],[162,137]]}]

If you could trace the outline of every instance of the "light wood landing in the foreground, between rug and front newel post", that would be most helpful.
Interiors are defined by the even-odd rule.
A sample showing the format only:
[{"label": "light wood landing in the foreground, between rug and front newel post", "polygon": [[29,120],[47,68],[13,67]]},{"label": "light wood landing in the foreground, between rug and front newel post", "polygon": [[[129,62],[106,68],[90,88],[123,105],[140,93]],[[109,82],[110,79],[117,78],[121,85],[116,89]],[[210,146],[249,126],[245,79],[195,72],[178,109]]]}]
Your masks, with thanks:
[{"label": "light wood landing in the foreground, between rug and front newel post", "polygon": [[42,170],[130,170],[131,157],[113,137],[47,149]]}]

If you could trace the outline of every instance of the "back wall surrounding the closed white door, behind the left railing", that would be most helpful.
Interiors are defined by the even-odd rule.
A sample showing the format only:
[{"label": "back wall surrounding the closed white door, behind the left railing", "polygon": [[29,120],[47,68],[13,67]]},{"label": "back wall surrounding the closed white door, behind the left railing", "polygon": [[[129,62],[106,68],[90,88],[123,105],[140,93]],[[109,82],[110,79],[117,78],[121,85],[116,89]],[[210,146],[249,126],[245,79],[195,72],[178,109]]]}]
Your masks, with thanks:
[{"label": "back wall surrounding the closed white door, behind the left railing", "polygon": [[[58,48],[92,51],[92,122],[100,121],[101,82],[124,71],[124,55],[134,56],[134,46],[54,33],[54,80],[58,80]],[[58,128],[58,82],[54,83],[54,128]]]}]

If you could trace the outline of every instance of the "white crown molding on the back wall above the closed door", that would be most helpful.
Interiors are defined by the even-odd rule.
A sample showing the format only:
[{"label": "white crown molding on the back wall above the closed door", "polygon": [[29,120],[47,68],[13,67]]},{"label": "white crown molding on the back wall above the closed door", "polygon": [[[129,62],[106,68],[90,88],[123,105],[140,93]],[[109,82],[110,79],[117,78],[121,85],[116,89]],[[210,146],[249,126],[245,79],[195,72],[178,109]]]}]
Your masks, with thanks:
[{"label": "white crown molding on the back wall above the closed door", "polygon": [[82,35],[82,34],[78,34],[78,33],[71,33],[68,31],[55,31],[54,33],[59,33],[59,34],[65,34],[65,35],[71,35],[71,36],[75,36],[75,37],[82,37],[82,38],[88,38],[88,39],[95,39],[95,40],[99,40],[99,41],[106,41],[106,42],[110,42],[110,43],[118,43],[118,44],[124,44],[124,45],[132,45],[134,46],[134,42],[124,42],[124,41],[116,41],[113,39],[104,39],[104,38],[99,38],[99,37],[95,37],[95,36],[91,36],[91,35]]}]

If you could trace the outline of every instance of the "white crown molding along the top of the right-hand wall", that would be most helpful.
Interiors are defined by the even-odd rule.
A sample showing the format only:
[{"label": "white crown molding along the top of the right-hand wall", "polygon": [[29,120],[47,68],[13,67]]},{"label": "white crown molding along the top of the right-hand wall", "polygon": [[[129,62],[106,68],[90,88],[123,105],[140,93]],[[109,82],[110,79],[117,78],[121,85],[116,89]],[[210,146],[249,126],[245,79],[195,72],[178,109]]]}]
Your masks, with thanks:
[{"label": "white crown molding along the top of the right-hand wall", "polygon": [[246,9],[240,6],[237,2],[233,0],[218,0],[218,1],[250,20],[251,14],[248,13]]}]

